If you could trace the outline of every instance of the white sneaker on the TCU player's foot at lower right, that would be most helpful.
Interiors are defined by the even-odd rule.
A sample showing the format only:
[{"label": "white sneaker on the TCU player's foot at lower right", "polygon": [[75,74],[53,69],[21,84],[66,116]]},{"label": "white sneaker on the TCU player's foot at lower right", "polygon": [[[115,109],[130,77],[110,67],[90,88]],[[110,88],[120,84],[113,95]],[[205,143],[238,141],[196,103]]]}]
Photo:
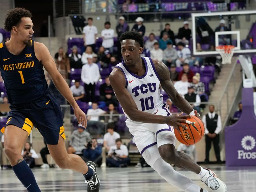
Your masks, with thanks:
[{"label": "white sneaker on the TCU player's foot at lower right", "polygon": [[226,184],[221,181],[212,170],[204,169],[209,171],[210,175],[205,175],[201,181],[210,187],[213,192],[227,192]]}]

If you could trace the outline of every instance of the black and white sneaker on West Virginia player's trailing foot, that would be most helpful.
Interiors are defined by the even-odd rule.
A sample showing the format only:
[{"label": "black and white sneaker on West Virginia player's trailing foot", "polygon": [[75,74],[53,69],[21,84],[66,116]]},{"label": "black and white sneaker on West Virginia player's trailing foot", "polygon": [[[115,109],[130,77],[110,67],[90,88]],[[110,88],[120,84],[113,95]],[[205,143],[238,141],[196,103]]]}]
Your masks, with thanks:
[{"label": "black and white sneaker on West Virginia player's trailing foot", "polygon": [[87,166],[93,170],[92,178],[90,180],[84,180],[87,184],[87,192],[98,192],[100,190],[100,180],[96,174],[96,165],[92,161],[88,161]]}]

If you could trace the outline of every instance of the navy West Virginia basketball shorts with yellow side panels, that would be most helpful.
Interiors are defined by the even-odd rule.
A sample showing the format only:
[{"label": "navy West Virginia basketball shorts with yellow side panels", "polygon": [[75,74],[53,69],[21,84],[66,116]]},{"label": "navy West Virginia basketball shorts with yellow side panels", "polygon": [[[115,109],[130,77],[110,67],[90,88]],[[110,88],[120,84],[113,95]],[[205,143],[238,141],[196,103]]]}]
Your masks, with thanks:
[{"label": "navy West Virginia basketball shorts with yellow side panels", "polygon": [[47,144],[57,145],[59,135],[66,139],[60,105],[50,92],[44,96],[22,104],[10,106],[6,125],[1,129],[4,133],[8,125],[15,125],[30,134],[35,126]]}]

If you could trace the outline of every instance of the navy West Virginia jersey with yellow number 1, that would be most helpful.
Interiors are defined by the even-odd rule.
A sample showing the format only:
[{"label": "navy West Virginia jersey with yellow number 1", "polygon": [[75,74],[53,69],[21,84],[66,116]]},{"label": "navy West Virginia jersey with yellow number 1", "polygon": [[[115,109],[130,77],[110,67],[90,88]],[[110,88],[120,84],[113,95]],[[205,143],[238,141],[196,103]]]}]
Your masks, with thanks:
[{"label": "navy West Virginia jersey with yellow number 1", "polygon": [[34,41],[19,55],[10,53],[5,42],[0,43],[0,71],[11,104],[27,103],[48,92],[43,65],[36,58]]}]

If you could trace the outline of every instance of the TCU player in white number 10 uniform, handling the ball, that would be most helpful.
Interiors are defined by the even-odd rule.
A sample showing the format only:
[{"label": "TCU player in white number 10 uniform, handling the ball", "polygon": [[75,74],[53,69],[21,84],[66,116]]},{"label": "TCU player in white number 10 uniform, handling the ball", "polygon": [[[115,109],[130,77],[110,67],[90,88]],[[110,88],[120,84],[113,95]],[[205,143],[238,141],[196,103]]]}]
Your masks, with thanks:
[{"label": "TCU player in white number 10 uniform, handling the ball", "polygon": [[[123,61],[111,72],[109,79],[127,117],[126,125],[132,133],[141,155],[160,176],[186,192],[207,192],[188,177],[176,172],[170,164],[195,172],[214,192],[226,192],[226,185],[214,172],[204,169],[185,153],[176,151],[174,128],[183,126],[190,115],[200,117],[175,90],[166,65],[148,57],[141,57],[144,39],[138,32],[120,36]],[[159,85],[173,104],[186,116],[172,116],[163,102]]]}]

